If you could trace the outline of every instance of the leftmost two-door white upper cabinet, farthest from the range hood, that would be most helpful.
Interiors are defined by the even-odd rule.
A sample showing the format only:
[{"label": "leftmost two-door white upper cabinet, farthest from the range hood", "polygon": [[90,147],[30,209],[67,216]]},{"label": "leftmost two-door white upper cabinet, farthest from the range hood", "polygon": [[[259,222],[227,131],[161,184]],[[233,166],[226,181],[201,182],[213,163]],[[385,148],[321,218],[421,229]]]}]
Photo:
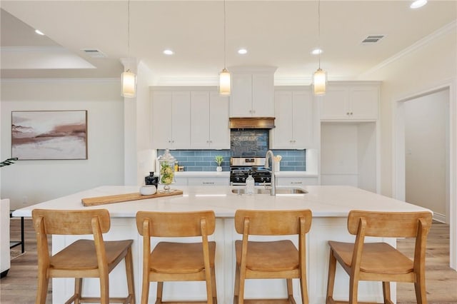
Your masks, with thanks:
[{"label": "leftmost two-door white upper cabinet, farthest from the range hood", "polygon": [[190,91],[152,91],[154,148],[189,148],[191,141]]}]

